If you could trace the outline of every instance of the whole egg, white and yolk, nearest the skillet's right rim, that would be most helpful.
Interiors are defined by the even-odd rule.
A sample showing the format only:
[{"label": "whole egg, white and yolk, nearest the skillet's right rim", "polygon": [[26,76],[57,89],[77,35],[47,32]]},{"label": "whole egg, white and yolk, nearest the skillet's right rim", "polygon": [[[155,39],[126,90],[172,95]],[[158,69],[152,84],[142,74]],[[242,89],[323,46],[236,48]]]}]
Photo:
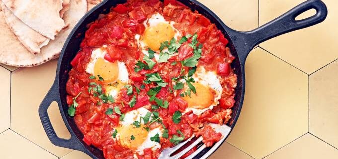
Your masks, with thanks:
[{"label": "whole egg, white and yolk, nearest the skillet's right rim", "polygon": [[[198,67],[193,75],[195,83],[192,85],[196,88],[196,94],[191,91],[191,95],[182,97],[188,103],[184,113],[192,111],[196,115],[200,115],[208,109],[212,109],[219,104],[222,95],[222,85],[214,71],[206,71],[204,67]],[[184,80],[181,80],[185,82]],[[185,86],[183,91],[188,90]]]}]

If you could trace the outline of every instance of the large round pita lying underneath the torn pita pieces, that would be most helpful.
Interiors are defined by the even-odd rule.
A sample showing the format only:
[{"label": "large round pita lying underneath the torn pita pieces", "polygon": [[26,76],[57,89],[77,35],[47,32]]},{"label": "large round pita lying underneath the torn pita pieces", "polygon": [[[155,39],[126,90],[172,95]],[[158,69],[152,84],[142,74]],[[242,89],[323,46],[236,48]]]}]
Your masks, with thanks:
[{"label": "large round pita lying underneath the torn pita pieces", "polygon": [[87,11],[86,0],[70,0],[69,10],[64,19],[69,27],[63,29],[55,40],[50,40],[47,46],[41,48],[40,54],[31,54],[16,38],[7,26],[3,12],[0,12],[0,63],[12,66],[30,67],[40,65],[59,56],[61,49],[75,24]]}]

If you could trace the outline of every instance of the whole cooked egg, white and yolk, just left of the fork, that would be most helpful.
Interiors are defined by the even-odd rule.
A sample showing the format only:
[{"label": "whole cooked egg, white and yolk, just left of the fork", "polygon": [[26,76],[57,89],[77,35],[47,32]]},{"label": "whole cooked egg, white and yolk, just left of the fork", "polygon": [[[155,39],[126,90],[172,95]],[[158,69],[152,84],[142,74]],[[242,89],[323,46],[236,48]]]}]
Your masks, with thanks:
[{"label": "whole cooked egg, white and yolk, just left of the fork", "polygon": [[[161,148],[161,144],[151,141],[151,137],[154,137],[156,134],[159,134],[159,137],[162,137],[163,128],[159,126],[147,131],[144,128],[146,125],[141,118],[146,116],[147,113],[151,112],[144,107],[130,111],[125,114],[124,121],[120,121],[120,126],[113,130],[117,130],[116,138],[114,138],[114,140],[119,142],[123,147],[137,152],[139,155],[143,155],[143,150],[146,148],[151,148],[153,151]],[[152,119],[152,116],[150,119]],[[135,121],[141,121],[141,126],[136,127],[133,125]],[[135,139],[132,140],[131,136]]]}]

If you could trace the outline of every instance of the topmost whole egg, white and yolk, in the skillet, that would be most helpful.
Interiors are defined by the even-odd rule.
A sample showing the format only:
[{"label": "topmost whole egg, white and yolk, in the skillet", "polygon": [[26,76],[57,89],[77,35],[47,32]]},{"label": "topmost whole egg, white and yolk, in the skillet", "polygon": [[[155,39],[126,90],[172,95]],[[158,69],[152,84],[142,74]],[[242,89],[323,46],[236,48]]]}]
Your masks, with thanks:
[{"label": "topmost whole egg, white and yolk, in the skillet", "polygon": [[[161,43],[170,41],[172,38],[177,40],[181,37],[180,32],[173,26],[174,24],[174,21],[166,21],[160,13],[155,13],[145,20],[143,22],[143,25],[146,28],[145,31],[142,35],[135,35],[135,39],[142,49],[142,52],[145,55],[148,55],[148,48],[159,52]],[[166,52],[166,50],[163,50],[163,52]],[[155,60],[158,61],[159,54],[154,54],[154,56]]]}]

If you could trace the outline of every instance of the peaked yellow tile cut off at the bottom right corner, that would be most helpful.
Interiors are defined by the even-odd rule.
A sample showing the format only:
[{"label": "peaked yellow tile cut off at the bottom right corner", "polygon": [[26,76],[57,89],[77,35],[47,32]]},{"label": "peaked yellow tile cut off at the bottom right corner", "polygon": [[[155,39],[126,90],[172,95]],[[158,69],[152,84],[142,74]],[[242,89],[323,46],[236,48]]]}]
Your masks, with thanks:
[{"label": "peaked yellow tile cut off at the bottom right corner", "polygon": [[338,150],[324,143],[311,134],[299,139],[272,153],[264,159],[337,159]]}]

